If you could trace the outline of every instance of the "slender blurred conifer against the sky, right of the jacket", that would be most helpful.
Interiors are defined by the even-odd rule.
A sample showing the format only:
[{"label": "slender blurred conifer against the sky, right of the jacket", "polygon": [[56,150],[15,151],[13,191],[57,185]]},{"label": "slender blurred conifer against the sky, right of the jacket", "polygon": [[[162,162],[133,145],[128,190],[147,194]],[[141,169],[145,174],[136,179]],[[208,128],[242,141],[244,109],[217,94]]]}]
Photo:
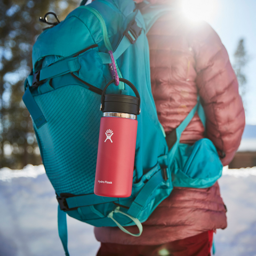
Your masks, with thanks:
[{"label": "slender blurred conifer against the sky, right of the jacket", "polygon": [[241,38],[238,42],[237,49],[234,53],[235,62],[233,68],[235,70],[237,80],[239,83],[239,94],[241,95],[243,101],[246,93],[246,75],[244,74],[244,69],[249,62],[249,56],[245,50],[244,39]]}]

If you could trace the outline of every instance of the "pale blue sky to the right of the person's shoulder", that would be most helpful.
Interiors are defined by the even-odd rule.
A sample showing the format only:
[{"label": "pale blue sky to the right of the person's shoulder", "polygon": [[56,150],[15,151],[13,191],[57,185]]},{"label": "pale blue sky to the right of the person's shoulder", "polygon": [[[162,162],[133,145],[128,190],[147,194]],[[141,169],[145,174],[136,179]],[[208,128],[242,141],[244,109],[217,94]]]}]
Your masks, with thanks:
[{"label": "pale blue sky to the right of the person's shoulder", "polygon": [[[194,3],[194,7],[191,3]],[[196,5],[201,6],[201,10]],[[204,13],[202,19],[210,23],[219,34],[228,51],[231,63],[234,63],[233,55],[239,39],[245,39],[245,50],[251,58],[245,68],[247,77],[247,93],[244,102],[246,124],[256,125],[256,1],[183,0],[183,6],[187,15],[191,12],[197,14],[199,11]]]}]

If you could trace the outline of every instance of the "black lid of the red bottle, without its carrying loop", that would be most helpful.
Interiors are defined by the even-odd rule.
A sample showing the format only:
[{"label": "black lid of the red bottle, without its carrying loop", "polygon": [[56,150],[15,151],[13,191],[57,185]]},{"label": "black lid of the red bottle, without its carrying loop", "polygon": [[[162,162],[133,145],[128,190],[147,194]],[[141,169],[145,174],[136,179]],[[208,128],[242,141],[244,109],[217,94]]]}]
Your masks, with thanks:
[{"label": "black lid of the red bottle, without its carrying loop", "polygon": [[138,105],[139,98],[137,97],[122,94],[106,94],[102,111],[137,115]]}]

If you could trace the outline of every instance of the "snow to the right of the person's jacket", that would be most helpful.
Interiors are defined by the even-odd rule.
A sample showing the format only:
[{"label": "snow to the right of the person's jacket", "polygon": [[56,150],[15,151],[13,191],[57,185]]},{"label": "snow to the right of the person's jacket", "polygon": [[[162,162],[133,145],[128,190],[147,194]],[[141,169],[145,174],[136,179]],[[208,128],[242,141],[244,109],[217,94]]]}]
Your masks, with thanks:
[{"label": "snow to the right of the person's jacket", "polygon": [[217,256],[256,255],[256,167],[224,170],[219,180],[228,227],[215,236]]}]

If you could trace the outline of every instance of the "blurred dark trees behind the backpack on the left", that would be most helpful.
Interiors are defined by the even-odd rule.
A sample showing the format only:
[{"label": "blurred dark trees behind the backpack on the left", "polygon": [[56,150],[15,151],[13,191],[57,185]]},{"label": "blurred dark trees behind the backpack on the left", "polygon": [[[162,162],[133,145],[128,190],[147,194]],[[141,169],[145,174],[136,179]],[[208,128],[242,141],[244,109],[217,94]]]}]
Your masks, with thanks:
[{"label": "blurred dark trees behind the backpack on the left", "polygon": [[[32,68],[32,47],[46,27],[48,11],[63,20],[79,0],[0,0],[0,168],[40,164],[33,124],[22,102],[23,82]],[[59,15],[60,14],[60,15]]]}]

